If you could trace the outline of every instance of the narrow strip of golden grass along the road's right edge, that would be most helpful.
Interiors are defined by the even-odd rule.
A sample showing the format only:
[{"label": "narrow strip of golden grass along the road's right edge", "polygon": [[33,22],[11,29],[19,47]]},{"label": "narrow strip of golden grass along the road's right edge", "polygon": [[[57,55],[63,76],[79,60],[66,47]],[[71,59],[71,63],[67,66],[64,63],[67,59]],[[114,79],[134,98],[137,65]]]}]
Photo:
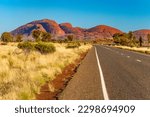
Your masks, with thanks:
[{"label": "narrow strip of golden grass along the road's right edge", "polygon": [[115,46],[115,47],[150,54],[150,48],[148,48],[148,47],[138,47],[138,48],[137,47],[128,47],[128,46]]}]

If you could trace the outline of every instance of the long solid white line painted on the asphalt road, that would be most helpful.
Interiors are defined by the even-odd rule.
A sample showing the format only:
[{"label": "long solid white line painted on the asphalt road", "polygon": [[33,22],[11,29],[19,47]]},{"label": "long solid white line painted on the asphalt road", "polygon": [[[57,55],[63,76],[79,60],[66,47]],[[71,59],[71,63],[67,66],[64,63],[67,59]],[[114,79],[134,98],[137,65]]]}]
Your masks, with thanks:
[{"label": "long solid white line painted on the asphalt road", "polygon": [[109,100],[106,85],[105,85],[105,80],[104,80],[104,76],[103,76],[103,72],[102,72],[102,68],[100,65],[100,61],[99,61],[96,47],[95,47],[95,54],[96,54],[98,68],[99,68],[99,74],[100,74],[100,79],[101,79],[101,84],[102,84],[102,91],[103,91],[104,100]]}]

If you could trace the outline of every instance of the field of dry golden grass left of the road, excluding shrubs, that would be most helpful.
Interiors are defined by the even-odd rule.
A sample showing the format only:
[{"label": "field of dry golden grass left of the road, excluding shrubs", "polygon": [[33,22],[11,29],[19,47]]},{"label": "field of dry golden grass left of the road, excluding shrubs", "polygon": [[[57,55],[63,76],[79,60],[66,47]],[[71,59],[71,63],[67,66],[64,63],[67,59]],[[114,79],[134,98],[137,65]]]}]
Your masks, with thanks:
[{"label": "field of dry golden grass left of the road, excluding shrubs", "polygon": [[65,44],[55,46],[55,53],[41,54],[24,52],[16,43],[0,45],[0,99],[35,99],[35,93],[46,81],[53,80],[65,66],[91,48],[91,45],[76,49],[66,49]]}]

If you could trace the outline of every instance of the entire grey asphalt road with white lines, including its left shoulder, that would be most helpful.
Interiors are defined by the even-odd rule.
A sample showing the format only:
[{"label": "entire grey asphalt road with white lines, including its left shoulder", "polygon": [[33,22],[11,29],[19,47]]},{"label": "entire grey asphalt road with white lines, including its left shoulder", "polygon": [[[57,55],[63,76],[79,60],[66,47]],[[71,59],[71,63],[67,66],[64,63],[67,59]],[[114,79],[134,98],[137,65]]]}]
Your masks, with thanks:
[{"label": "entire grey asphalt road with white lines, including its left shoulder", "polygon": [[96,45],[59,99],[150,99],[150,56]]}]

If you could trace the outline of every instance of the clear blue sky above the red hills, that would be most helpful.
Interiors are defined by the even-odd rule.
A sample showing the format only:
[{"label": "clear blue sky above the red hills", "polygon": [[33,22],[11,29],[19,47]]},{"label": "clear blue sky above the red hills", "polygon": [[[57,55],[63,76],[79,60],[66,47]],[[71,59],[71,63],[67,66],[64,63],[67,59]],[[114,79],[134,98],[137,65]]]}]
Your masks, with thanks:
[{"label": "clear blue sky above the red hills", "polygon": [[150,29],[150,0],[0,0],[0,33],[45,18],[84,28]]}]

